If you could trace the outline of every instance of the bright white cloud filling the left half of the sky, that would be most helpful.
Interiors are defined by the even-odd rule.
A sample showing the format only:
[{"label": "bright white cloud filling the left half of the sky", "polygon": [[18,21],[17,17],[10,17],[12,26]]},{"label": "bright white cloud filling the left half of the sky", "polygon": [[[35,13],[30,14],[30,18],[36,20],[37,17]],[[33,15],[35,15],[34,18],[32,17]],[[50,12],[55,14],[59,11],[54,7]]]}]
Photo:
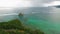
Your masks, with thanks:
[{"label": "bright white cloud filling the left half of the sky", "polygon": [[0,7],[30,7],[30,3],[27,0],[0,0]]}]

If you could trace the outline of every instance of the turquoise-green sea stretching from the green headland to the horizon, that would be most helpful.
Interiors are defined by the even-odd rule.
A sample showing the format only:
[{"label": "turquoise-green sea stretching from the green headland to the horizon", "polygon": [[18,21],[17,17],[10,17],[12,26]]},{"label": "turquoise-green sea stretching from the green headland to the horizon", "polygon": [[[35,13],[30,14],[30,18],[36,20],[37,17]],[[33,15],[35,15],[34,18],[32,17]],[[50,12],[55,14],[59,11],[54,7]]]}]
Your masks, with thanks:
[{"label": "turquoise-green sea stretching from the green headland to the horizon", "polygon": [[[60,34],[60,8],[55,7],[31,7],[26,10],[24,17],[19,17],[24,24],[37,28],[45,34]],[[23,11],[24,12],[24,11]],[[3,17],[3,21],[17,18],[17,15]],[[4,20],[6,19],[6,20]],[[1,21],[1,20],[0,20]]]}]

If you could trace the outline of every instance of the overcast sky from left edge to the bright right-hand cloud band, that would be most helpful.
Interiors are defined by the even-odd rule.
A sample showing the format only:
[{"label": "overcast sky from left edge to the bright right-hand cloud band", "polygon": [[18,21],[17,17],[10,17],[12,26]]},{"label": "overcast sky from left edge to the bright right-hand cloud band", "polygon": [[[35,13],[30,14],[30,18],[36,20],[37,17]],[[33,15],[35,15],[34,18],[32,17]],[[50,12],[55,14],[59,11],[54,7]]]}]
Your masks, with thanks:
[{"label": "overcast sky from left edge to the bright right-hand cloud band", "polygon": [[0,7],[38,7],[52,1],[57,0],[0,0]]}]

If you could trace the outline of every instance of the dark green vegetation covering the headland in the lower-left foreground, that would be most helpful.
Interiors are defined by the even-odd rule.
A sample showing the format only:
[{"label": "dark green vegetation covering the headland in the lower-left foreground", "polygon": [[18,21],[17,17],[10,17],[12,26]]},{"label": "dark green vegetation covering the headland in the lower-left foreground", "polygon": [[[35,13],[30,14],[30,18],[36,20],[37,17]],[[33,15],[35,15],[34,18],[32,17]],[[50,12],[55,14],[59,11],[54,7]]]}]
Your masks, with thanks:
[{"label": "dark green vegetation covering the headland in the lower-left foreground", "polygon": [[44,34],[40,30],[24,26],[18,19],[0,22],[0,34]]}]

